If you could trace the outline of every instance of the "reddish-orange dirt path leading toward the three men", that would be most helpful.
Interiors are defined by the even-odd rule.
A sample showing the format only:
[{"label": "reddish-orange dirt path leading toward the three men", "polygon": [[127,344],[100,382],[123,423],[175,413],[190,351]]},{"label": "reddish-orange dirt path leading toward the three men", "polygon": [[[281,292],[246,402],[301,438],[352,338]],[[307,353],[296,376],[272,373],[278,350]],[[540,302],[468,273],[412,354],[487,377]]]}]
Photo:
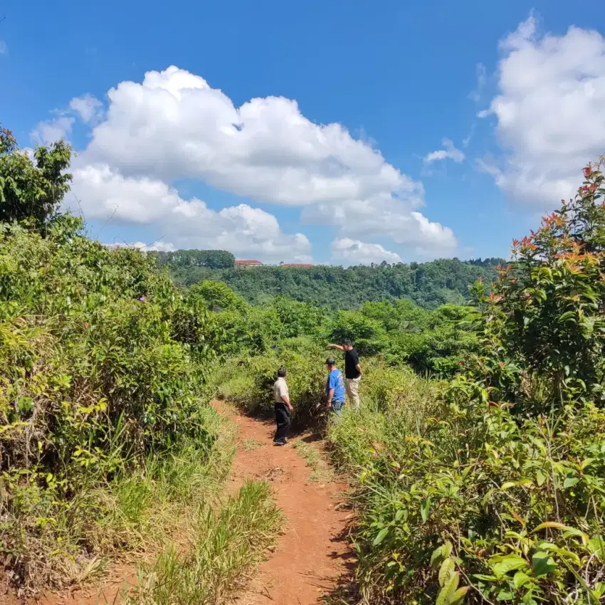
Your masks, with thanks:
[{"label": "reddish-orange dirt path leading toward the three men", "polygon": [[266,480],[286,517],[275,552],[236,602],[322,603],[354,564],[347,543],[347,511],[342,507],[347,485],[335,482],[313,436],[297,436],[277,447],[272,442],[273,423],[243,416],[221,401],[215,405],[239,428],[230,489],[235,492],[246,479]]}]

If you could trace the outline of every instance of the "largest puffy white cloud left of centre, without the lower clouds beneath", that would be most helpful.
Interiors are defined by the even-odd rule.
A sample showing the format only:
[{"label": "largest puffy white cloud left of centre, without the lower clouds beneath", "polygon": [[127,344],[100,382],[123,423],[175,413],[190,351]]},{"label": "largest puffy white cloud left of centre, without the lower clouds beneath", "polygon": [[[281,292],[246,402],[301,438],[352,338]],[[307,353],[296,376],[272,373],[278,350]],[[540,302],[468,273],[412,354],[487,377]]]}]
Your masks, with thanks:
[{"label": "largest puffy white cloud left of centre, without the lower clouds beneath", "polygon": [[107,119],[86,156],[122,174],[189,177],[259,201],[303,206],[399,191],[409,178],[340,124],[316,125],[294,100],[241,107],[177,67],[107,93]]}]

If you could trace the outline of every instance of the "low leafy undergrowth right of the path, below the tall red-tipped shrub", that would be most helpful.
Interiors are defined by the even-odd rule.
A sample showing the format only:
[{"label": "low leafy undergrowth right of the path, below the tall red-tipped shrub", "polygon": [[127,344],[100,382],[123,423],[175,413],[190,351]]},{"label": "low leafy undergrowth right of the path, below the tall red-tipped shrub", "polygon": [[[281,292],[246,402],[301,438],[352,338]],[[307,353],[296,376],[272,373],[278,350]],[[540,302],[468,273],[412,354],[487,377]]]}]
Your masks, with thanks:
[{"label": "low leafy undergrowth right of the path, below the tall red-tipped shrub", "polygon": [[[597,602],[605,415],[567,406],[555,421],[520,420],[487,411],[474,384],[452,386],[450,404],[418,386],[409,383],[409,408],[345,414],[330,429],[337,458],[359,480],[357,575],[367,602],[434,602],[456,569],[453,584],[473,586],[468,602],[564,603],[569,591],[572,602]],[[451,601],[439,602],[465,594],[453,599],[453,584]]]}]

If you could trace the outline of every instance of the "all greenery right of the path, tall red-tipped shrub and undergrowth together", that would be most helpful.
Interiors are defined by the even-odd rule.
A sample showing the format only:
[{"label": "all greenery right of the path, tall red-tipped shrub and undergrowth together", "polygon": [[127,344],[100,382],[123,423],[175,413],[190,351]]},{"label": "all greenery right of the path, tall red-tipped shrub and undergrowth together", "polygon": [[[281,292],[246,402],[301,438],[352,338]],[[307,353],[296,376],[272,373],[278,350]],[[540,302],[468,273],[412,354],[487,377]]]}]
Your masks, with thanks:
[{"label": "all greenery right of the path, tall red-tipped shrub and undergrowth together", "polygon": [[[416,379],[417,396],[369,398],[332,426],[337,458],[359,478],[367,602],[596,604],[605,594],[605,206],[599,169],[584,176],[573,201],[514,244],[493,292],[476,286],[481,348],[464,374],[436,397]],[[395,376],[384,382],[394,391]]]}]

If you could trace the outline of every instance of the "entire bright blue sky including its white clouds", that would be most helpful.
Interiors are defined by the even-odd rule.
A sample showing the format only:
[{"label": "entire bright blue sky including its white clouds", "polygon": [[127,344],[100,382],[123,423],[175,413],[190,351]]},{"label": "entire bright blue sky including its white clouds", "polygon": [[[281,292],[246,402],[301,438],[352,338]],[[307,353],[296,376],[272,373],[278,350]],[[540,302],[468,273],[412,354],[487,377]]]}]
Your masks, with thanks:
[{"label": "entire bright blue sky including its white clouds", "polygon": [[5,0],[1,16],[3,125],[22,147],[73,143],[67,204],[107,243],[507,256],[605,152],[605,14],[583,4]]}]

